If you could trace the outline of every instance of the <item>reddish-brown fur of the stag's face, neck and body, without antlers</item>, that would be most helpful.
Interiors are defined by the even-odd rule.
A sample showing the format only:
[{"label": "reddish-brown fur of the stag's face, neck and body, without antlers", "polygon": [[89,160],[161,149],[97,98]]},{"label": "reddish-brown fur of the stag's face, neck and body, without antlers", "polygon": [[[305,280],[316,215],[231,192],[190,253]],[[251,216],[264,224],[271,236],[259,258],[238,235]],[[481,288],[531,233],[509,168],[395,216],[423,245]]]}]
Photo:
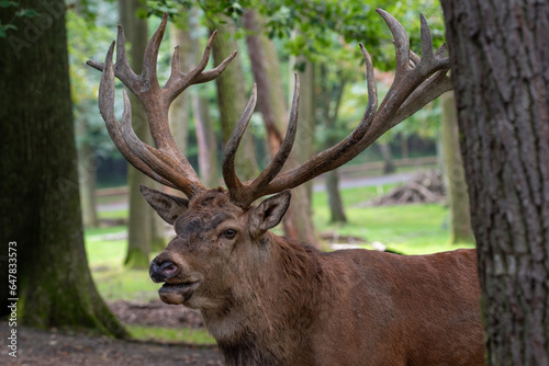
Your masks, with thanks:
[{"label": "reddish-brown fur of the stag's face, neck and body, without antlers", "polygon": [[251,215],[209,191],[155,260],[181,268],[168,282],[201,281],[184,305],[227,365],[483,364],[474,250],[323,253],[269,231],[253,240]]}]

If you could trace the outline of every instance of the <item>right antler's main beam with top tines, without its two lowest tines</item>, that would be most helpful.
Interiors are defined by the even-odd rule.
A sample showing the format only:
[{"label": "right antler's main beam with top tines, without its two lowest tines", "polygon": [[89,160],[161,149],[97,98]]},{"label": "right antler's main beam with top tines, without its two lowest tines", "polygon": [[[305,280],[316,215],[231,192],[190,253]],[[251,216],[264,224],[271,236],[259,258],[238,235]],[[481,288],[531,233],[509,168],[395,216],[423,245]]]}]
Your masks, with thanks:
[{"label": "right antler's main beam with top tines, without its two lowest tines", "polygon": [[[378,9],[394,37],[395,77],[393,84],[378,110],[370,103],[376,95],[373,66],[362,47],[367,64],[369,105],[359,126],[343,141],[316,155],[298,168],[276,176],[261,190],[261,195],[273,194],[298,186],[324,172],[348,162],[373,144],[388,129],[413,114],[422,106],[451,88],[446,73],[449,62],[440,58],[441,52],[433,53],[430,31],[422,16],[422,57],[410,50],[410,37],[401,23],[391,14]],[[430,48],[430,49],[429,49]],[[376,104],[377,106],[377,98]]]}]

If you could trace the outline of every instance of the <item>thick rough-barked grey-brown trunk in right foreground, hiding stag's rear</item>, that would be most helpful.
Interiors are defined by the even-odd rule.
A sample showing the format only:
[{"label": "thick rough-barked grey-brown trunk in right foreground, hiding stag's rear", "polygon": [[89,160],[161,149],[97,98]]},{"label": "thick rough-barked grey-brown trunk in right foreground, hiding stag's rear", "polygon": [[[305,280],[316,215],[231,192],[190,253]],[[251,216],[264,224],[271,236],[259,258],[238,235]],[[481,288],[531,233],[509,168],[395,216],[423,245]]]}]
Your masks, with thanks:
[{"label": "thick rough-barked grey-brown trunk in right foreground, hiding stag's rear", "polygon": [[444,0],[490,365],[549,365],[549,2]]}]

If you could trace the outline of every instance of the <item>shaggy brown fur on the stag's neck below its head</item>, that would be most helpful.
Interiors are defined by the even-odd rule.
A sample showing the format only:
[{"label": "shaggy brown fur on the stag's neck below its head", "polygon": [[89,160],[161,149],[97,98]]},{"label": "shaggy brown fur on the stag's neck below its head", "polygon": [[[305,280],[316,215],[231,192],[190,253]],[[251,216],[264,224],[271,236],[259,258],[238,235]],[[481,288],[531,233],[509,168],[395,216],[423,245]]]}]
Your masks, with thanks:
[{"label": "shaggy brown fur on the stag's neck below its head", "polygon": [[[309,359],[311,334],[326,285],[320,253],[267,232],[258,259],[238,268],[223,312],[203,311],[226,365],[300,365]],[[329,288],[329,286],[327,286]]]}]

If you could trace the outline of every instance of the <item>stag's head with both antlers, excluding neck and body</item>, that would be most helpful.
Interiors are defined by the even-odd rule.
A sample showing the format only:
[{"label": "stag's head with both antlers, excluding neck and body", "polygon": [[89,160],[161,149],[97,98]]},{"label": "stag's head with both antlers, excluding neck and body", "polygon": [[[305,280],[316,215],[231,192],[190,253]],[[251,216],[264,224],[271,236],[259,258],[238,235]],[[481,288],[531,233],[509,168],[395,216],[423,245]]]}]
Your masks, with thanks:
[{"label": "stag's head with both antlers, excluding neck and body", "polygon": [[[99,107],[109,134],[122,155],[135,168],[167,186],[179,190],[187,198],[142,186],[142,193],[158,215],[175,226],[177,237],[150,264],[150,277],[165,283],[160,298],[169,304],[184,304],[202,310],[221,311],[234,299],[236,284],[246,271],[261,271],[270,265],[277,226],[290,203],[290,191],[313,178],[336,169],[355,158],[377,138],[407,116],[451,89],[446,47],[433,52],[430,31],[422,15],[422,58],[410,49],[408,35],[389,13],[378,10],[394,37],[395,77],[385,99],[378,107],[373,66],[367,49],[360,45],[368,83],[368,104],[361,122],[344,140],[317,153],[301,165],[282,171],[292,148],[298,122],[299,80],[295,77],[293,103],[283,144],[269,165],[253,181],[242,182],[235,173],[235,152],[256,104],[254,87],[249,102],[238,122],[223,157],[225,188],[209,190],[178,150],[169,131],[168,108],[176,96],[191,84],[215,79],[236,56],[204,71],[215,33],[208,42],[201,62],[188,73],[179,70],[178,48],[173,54],[171,75],[164,87],[156,78],[158,48],[166,28],[165,14],[145,52],[143,73],[135,75],[127,64],[124,33],[119,26],[116,62],[111,45],[104,64],[88,61],[103,71]],[[131,107],[124,92],[122,123],[114,116],[114,76],[143,103],[156,147],[141,141],[132,129]],[[276,194],[276,195],[273,195]],[[258,198],[273,195],[259,205]],[[272,261],[271,261],[272,262]]]}]

